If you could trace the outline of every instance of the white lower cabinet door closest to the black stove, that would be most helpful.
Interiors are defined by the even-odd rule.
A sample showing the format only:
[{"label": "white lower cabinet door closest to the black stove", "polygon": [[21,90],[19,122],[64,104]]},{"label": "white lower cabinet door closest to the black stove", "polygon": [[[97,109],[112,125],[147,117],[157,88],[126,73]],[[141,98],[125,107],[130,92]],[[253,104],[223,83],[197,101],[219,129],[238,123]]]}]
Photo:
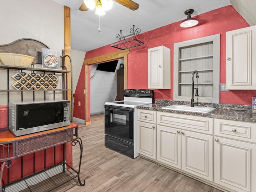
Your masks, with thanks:
[{"label": "white lower cabinet door closest to the black stove", "polygon": [[156,124],[138,121],[138,153],[156,159]]}]

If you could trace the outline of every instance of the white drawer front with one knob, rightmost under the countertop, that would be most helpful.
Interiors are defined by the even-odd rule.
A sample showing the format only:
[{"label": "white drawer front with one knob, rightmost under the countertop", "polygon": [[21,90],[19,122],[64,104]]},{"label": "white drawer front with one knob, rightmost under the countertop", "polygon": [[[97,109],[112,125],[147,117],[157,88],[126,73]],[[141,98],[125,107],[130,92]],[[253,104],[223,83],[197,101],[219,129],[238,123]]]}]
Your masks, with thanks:
[{"label": "white drawer front with one knob, rightmost under the countertop", "polygon": [[214,133],[217,136],[256,142],[256,123],[214,119]]}]

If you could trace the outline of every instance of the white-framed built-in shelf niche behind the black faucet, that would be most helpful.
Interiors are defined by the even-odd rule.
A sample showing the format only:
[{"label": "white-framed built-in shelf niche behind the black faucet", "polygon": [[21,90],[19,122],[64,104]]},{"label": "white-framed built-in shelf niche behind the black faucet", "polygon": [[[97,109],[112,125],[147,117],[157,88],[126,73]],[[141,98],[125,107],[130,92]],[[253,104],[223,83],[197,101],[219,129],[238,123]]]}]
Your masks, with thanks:
[{"label": "white-framed built-in shelf niche behind the black faucet", "polygon": [[174,100],[190,101],[197,70],[198,102],[219,102],[219,44],[219,35],[174,44]]}]

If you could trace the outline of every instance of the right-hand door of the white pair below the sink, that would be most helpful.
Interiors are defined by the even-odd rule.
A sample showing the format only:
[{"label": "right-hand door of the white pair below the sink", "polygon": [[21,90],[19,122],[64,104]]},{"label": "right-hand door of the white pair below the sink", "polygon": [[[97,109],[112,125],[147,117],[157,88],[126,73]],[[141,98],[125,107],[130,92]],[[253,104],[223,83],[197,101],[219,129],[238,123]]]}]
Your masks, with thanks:
[{"label": "right-hand door of the white pair below the sink", "polygon": [[182,130],[182,170],[213,181],[213,136]]}]

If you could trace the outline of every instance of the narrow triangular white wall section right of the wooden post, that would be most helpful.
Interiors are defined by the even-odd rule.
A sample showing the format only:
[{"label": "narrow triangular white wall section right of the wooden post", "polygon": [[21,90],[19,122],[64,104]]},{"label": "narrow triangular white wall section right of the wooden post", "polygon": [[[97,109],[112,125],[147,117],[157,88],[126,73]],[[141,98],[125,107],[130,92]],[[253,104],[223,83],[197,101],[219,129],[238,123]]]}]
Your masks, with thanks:
[{"label": "narrow triangular white wall section right of the wooden post", "polygon": [[85,54],[86,52],[71,49],[73,94],[75,93],[78,78],[82,70]]}]

